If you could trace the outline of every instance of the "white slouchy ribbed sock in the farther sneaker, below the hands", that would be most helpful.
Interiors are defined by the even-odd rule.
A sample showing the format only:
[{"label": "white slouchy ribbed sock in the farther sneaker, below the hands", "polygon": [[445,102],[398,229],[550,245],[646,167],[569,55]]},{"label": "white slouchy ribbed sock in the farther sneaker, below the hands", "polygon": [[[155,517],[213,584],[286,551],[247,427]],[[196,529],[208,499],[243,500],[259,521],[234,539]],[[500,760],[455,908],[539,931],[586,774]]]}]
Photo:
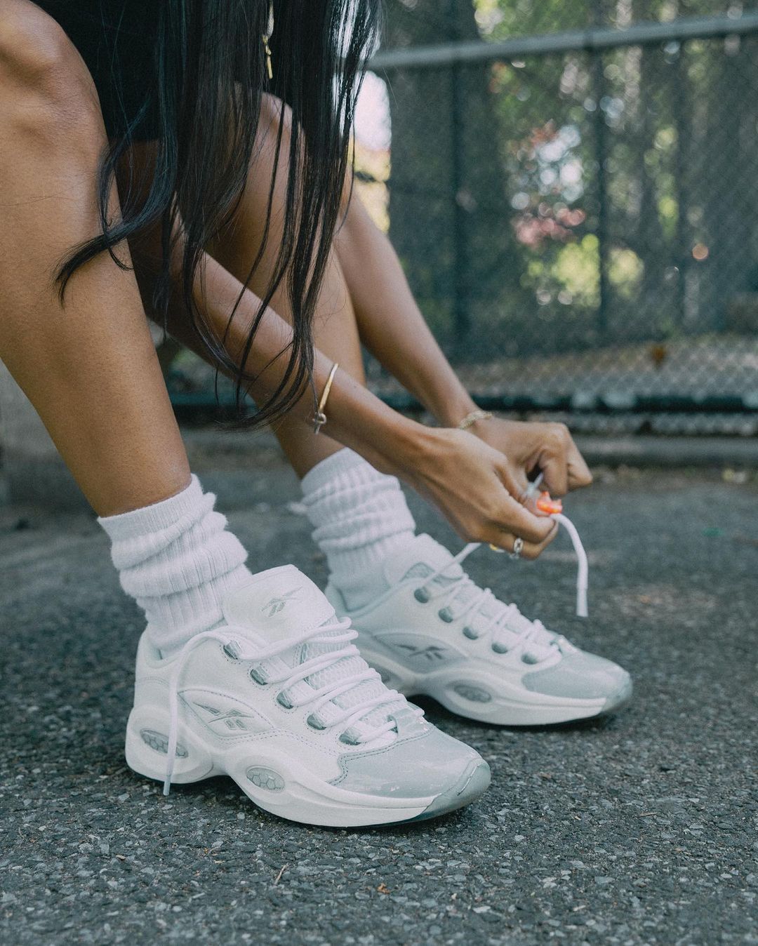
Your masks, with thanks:
[{"label": "white slouchy ribbed sock in the farther sneaker, below the hands", "polygon": [[350,610],[368,604],[387,588],[380,563],[415,534],[397,478],[343,449],[316,464],[302,487],[330,581]]}]

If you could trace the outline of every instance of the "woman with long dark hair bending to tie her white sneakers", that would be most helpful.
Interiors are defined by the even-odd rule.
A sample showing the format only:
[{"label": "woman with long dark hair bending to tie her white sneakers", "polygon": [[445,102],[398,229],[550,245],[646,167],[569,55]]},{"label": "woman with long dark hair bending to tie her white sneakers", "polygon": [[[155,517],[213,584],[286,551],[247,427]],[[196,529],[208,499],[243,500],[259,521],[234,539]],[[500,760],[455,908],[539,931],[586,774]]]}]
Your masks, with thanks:
[{"label": "woman with long dark hair bending to tie her white sneakers", "polygon": [[[375,19],[372,0],[0,0],[0,357],[147,617],[127,760],[166,791],[227,773],[334,826],[439,815],[489,780],[368,667],[350,617],[388,682],[473,718],[578,718],[628,690],[414,534],[396,477],[527,558],[555,535],[520,501],[527,474],[556,495],[591,477],[566,429],[476,411],[351,199]],[[327,597],[246,568],[190,474],[146,314],[277,421]],[[441,427],[365,389],[361,342]]]}]

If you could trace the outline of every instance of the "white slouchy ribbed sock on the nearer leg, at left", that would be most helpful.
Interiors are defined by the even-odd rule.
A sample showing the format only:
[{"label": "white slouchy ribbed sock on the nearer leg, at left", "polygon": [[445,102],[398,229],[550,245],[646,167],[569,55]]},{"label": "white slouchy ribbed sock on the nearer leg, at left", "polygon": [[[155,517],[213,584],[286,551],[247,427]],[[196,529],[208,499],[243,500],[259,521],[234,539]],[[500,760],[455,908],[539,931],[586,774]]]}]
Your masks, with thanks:
[{"label": "white slouchy ribbed sock on the nearer leg, at left", "polygon": [[121,587],[145,611],[150,640],[164,656],[220,623],[222,596],[251,577],[247,552],[215,502],[193,476],[170,499],[97,519],[111,537]]}]

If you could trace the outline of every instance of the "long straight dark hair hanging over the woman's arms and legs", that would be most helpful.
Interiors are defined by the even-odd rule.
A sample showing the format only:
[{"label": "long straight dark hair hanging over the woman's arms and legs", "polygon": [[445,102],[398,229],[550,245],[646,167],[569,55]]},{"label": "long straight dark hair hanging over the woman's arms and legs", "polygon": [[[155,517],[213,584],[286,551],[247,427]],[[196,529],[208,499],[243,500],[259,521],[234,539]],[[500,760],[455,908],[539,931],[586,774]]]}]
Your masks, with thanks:
[{"label": "long straight dark hair hanging over the woman's arms and legs", "polygon": [[[247,421],[259,425],[288,411],[311,379],[313,310],[339,219],[355,100],[362,62],[379,28],[379,0],[274,0],[271,82],[266,79],[261,41],[269,19],[269,0],[163,0],[158,6],[154,94],[160,137],[147,200],[135,206],[129,194],[122,194],[119,219],[108,217],[115,170],[132,144],[127,130],[108,150],[100,169],[102,233],[64,262],[59,285],[63,296],[79,267],[102,252],[110,253],[118,266],[127,268],[119,259],[118,244],[160,221],[163,270],[152,305],[158,312],[167,310],[171,254],[179,249],[185,305],[217,365],[236,377],[241,416],[245,394],[255,378],[229,358],[223,348],[225,336],[218,338],[203,320],[193,299],[193,284],[204,247],[233,215],[249,169],[255,166],[261,95],[268,90],[280,96],[291,108],[292,118],[284,236],[275,272],[247,335],[241,364],[253,346],[265,307],[283,280],[293,333],[281,382]],[[140,118],[135,117],[132,127]],[[281,131],[275,163],[280,145]],[[273,180],[266,235],[272,198]],[[263,249],[262,245],[256,259],[250,261],[251,276]],[[230,313],[229,324],[237,306]],[[287,349],[280,354],[285,353]]]}]

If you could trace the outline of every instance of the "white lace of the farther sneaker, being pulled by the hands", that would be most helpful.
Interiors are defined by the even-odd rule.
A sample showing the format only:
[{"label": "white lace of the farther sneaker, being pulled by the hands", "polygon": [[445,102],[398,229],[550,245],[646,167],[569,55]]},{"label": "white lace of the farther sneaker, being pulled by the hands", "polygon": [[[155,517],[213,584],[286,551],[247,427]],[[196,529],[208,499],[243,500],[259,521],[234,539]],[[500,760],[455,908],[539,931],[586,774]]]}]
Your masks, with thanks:
[{"label": "white lace of the farther sneaker, being pulled by the hands", "polygon": [[[584,551],[582,540],[571,519],[562,513],[554,513],[552,518],[559,525],[563,526],[569,534],[573,551],[576,554],[578,563],[576,573],[576,614],[580,618],[588,616],[587,608],[587,587],[589,584],[589,565],[587,561],[587,552]],[[503,604],[489,588],[478,587],[464,572],[457,577],[450,578],[446,575],[451,568],[460,565],[471,552],[478,549],[481,542],[469,542],[457,555],[454,555],[450,562],[442,568],[433,571],[427,575],[423,582],[416,587],[415,592],[422,591],[423,598],[419,601],[440,600],[440,617],[448,622],[459,621],[463,619],[468,621],[476,615],[485,614],[489,611],[488,620],[480,623],[476,629],[467,628],[472,637],[477,639],[492,636],[493,646],[497,644],[495,639],[498,631],[511,630],[518,635],[522,645],[534,644],[538,648],[548,648],[559,645],[562,638],[559,635],[552,634],[541,621],[530,621],[521,614],[516,604]],[[447,578],[448,584],[444,585],[439,591],[433,592],[430,588],[436,578]],[[455,610],[456,602],[460,610]],[[524,653],[528,653],[528,648],[524,646]],[[538,654],[533,655],[539,658]]]}]

